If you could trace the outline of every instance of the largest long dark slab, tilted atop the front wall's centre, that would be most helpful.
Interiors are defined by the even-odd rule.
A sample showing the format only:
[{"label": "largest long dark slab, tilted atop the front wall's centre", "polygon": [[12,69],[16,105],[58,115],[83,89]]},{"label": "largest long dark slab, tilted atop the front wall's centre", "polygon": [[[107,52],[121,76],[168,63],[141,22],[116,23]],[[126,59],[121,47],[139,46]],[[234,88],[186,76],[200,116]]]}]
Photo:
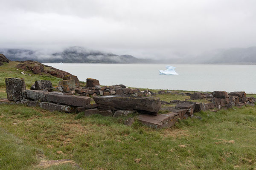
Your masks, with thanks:
[{"label": "largest long dark slab, tilted atop the front wall's centre", "polygon": [[135,97],[128,95],[110,95],[93,97],[96,103],[113,106],[119,109],[134,109],[151,112],[156,115],[161,108],[159,98],[155,97]]}]

